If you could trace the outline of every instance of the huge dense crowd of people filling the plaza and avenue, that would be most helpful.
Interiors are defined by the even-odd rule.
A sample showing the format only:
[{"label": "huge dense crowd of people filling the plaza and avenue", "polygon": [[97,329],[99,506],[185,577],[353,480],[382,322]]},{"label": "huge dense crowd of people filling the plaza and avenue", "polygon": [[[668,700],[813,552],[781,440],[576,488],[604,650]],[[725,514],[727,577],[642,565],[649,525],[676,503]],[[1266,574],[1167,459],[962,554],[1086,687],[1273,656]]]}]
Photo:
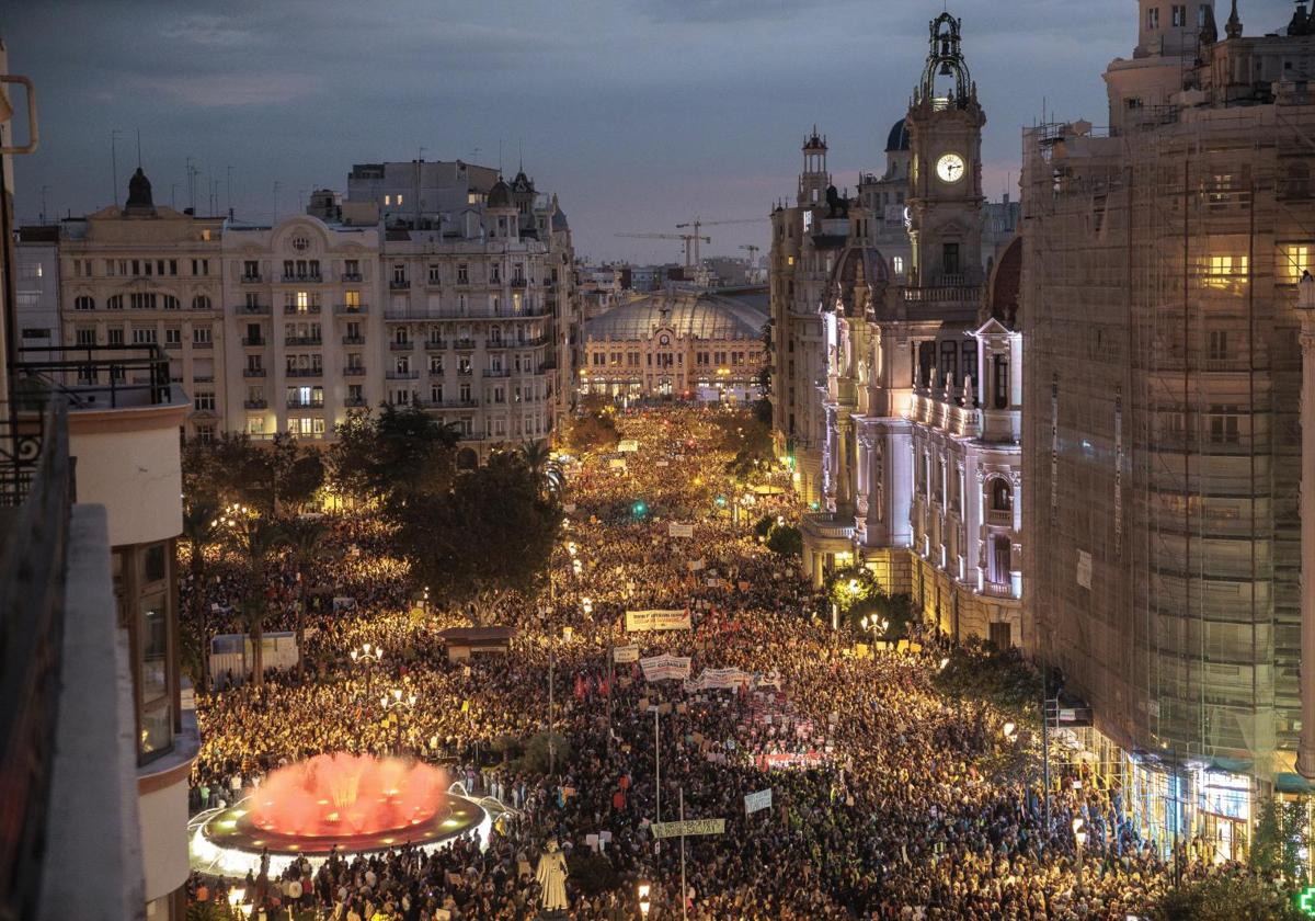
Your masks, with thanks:
[{"label": "huge dense crowd of people filling the plaza and avenue", "polygon": [[[354,605],[309,620],[304,676],[238,675],[199,696],[193,809],[233,804],[314,754],[400,750],[447,764],[509,812],[487,841],[433,853],[335,855],[246,880],[199,874],[196,897],[238,885],[268,918],[291,905],[306,917],[521,921],[535,917],[533,867],[551,838],[569,855],[581,921],[638,917],[640,880],[652,885],[651,918],[684,909],[707,921],[1124,921],[1156,904],[1176,868],[1137,835],[1119,791],[1094,778],[1056,784],[1047,824],[1035,772],[1002,757],[1016,745],[1005,714],[936,691],[945,646],[934,632],[910,628],[918,651],[856,654],[819,616],[823,599],[752,526],[797,520],[789,472],[764,466],[757,489],[731,479],[718,412],[622,413],[636,450],[567,462],[551,585],[504,604],[517,630],[506,655],[450,662],[438,632],[462,617],[414,609],[377,522],[330,516],[335,559],[348,564],[323,578]],[[673,522],[692,534],[673,537]],[[241,578],[188,591],[222,612]],[[272,579],[288,626],[291,571]],[[626,632],[626,610],[655,608],[688,610],[690,629]],[[354,660],[364,643],[381,659]],[[629,645],[689,657],[692,678],[738,668],[759,682],[647,682],[638,663],[615,662]],[[416,705],[383,712],[377,697],[392,688]],[[522,754],[544,732],[560,745],[552,772]],[[744,797],[765,789],[771,805],[746,813]],[[681,814],[723,818],[725,830],[654,835],[654,822]],[[1074,818],[1089,832],[1081,866]],[[1181,857],[1187,878],[1230,870]]]}]

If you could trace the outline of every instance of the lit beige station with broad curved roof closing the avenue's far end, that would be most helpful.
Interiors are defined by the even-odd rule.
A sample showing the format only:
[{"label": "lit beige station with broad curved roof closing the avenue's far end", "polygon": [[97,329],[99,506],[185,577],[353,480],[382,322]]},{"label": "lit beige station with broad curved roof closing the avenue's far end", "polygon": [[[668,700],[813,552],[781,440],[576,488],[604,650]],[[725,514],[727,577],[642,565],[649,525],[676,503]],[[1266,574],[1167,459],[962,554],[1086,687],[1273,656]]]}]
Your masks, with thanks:
[{"label": "lit beige station with broad curved roof closing the avenue's far end", "polygon": [[761,395],[767,291],[669,288],[584,325],[580,392],[748,403]]}]

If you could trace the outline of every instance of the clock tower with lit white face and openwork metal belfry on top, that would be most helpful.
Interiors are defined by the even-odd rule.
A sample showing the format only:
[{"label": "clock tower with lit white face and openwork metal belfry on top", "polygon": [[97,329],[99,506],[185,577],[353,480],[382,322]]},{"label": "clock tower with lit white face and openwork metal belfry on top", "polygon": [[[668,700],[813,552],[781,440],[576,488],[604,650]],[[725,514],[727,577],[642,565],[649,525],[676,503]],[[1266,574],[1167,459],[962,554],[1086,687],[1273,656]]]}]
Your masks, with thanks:
[{"label": "clock tower with lit white face and openwork metal belfry on top", "polygon": [[961,21],[931,22],[931,50],[914,91],[909,125],[913,164],[909,237],[914,287],[984,282],[981,268],[981,137],[986,113],[960,47]]}]

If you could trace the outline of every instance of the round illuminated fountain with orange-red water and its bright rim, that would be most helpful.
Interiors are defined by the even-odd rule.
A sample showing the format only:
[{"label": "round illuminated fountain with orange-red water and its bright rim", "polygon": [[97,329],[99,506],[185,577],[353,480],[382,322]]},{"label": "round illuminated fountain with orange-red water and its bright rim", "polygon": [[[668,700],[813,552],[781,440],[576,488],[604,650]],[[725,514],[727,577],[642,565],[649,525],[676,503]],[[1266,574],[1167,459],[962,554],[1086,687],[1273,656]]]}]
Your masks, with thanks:
[{"label": "round illuminated fountain with orange-red water and its bright rim", "polygon": [[323,859],[412,843],[423,849],[487,826],[484,809],[447,791],[444,771],[398,758],[335,753],[270,774],[259,788],[197,822],[193,866],[238,872],[300,855]]}]

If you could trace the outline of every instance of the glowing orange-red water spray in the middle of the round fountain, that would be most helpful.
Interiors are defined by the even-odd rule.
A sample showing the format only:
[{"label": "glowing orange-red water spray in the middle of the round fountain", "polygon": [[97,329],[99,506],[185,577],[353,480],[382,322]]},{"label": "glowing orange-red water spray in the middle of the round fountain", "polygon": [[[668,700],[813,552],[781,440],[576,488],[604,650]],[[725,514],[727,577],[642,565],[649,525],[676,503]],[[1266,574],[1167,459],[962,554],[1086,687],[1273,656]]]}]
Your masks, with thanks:
[{"label": "glowing orange-red water spray in the middle of the round fountain", "polygon": [[397,758],[339,751],[280,767],[251,795],[251,824],[323,838],[419,825],[447,800],[447,775]]}]

